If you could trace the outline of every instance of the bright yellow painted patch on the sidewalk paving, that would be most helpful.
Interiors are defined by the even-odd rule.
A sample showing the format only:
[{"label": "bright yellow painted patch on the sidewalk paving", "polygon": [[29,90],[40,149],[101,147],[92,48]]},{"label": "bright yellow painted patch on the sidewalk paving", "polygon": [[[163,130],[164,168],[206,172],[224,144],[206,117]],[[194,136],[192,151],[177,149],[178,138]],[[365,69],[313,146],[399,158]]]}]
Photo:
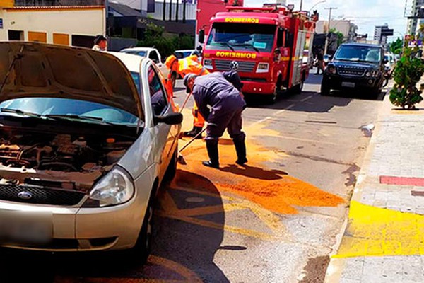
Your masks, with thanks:
[{"label": "bright yellow painted patch on the sidewalk paving", "polygon": [[334,258],[382,255],[424,255],[424,216],[351,202]]}]

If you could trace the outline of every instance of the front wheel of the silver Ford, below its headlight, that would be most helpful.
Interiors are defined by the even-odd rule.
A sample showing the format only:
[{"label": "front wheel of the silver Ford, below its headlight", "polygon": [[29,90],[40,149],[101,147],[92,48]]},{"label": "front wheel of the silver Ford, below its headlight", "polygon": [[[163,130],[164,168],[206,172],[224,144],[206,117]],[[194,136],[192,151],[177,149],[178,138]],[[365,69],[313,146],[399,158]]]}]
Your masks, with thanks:
[{"label": "front wheel of the silver Ford, below its headlight", "polygon": [[154,214],[154,192],[152,192],[151,200],[148,202],[146,215],[144,216],[143,225],[137,238],[136,245],[129,250],[129,257],[134,258],[137,263],[144,265],[147,262],[148,255],[151,252],[151,242],[153,234],[153,214]]}]

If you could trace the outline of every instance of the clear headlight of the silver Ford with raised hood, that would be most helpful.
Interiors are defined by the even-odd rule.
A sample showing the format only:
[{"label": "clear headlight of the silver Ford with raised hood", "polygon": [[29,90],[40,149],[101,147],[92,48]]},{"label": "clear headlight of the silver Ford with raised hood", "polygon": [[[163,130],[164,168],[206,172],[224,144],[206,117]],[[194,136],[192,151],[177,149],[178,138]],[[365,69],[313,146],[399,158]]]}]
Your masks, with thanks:
[{"label": "clear headlight of the silver Ford with raised hood", "polygon": [[123,204],[134,195],[134,183],[122,168],[115,167],[95,184],[90,192],[90,200],[100,207]]}]

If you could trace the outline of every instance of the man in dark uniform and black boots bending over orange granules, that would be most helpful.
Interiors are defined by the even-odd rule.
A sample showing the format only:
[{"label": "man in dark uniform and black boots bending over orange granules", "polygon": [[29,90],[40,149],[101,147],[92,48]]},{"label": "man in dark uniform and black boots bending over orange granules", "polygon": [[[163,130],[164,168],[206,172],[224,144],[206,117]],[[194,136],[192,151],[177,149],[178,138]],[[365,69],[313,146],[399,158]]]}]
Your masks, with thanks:
[{"label": "man in dark uniform and black boots bending over orange granules", "polygon": [[205,141],[209,160],[203,161],[202,164],[219,168],[218,140],[227,129],[237,153],[235,163],[244,165],[247,158],[246,135],[242,131],[242,111],[246,108],[246,102],[240,96],[240,91],[220,72],[204,76],[187,74],[184,77],[184,86],[187,93],[192,93],[201,115],[206,117],[208,122]]}]

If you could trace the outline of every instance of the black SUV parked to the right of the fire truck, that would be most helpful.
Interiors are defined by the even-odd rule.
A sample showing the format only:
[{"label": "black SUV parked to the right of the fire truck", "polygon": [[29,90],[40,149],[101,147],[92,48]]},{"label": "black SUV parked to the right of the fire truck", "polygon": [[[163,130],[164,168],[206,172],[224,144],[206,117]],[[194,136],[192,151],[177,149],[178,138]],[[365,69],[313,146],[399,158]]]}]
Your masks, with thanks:
[{"label": "black SUV parked to the right of the fire truck", "polygon": [[379,45],[340,45],[324,71],[321,94],[326,96],[331,90],[362,88],[377,96],[382,91],[384,64],[384,49]]}]

